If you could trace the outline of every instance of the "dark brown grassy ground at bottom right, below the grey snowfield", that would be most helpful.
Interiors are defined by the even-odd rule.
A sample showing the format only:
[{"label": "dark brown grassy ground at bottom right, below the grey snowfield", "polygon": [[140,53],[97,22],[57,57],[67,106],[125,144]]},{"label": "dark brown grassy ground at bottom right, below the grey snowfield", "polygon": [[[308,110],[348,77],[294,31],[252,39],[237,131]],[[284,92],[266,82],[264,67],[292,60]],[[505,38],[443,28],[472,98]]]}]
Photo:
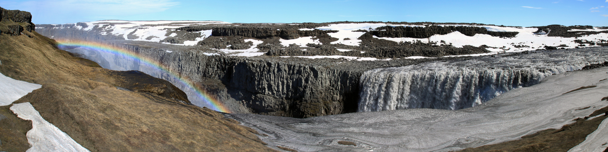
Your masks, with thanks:
[{"label": "dark brown grassy ground at bottom right, below the grey snowfield", "polygon": [[[593,112],[588,117],[578,118],[575,123],[562,126],[558,130],[548,129],[534,134],[523,136],[522,139],[509,142],[497,143],[494,145],[484,145],[475,148],[466,148],[462,152],[473,151],[568,151],[585,140],[587,135],[598,129],[599,123],[607,118],[604,112],[608,107],[601,108]],[[595,119],[587,120],[589,117],[598,116]]]}]

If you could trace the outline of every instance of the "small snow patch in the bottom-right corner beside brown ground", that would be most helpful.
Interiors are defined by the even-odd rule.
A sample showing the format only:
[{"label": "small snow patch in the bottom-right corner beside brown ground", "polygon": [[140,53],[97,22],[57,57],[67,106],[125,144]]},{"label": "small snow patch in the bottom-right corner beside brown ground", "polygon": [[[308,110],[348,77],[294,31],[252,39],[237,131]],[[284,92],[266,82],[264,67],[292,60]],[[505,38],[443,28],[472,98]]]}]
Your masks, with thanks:
[{"label": "small snow patch in the bottom-right corner beside brown ground", "polygon": [[[603,114],[600,114],[603,116]],[[587,135],[584,142],[576,145],[568,152],[601,152],[608,147],[608,119],[599,124],[598,129]]]}]

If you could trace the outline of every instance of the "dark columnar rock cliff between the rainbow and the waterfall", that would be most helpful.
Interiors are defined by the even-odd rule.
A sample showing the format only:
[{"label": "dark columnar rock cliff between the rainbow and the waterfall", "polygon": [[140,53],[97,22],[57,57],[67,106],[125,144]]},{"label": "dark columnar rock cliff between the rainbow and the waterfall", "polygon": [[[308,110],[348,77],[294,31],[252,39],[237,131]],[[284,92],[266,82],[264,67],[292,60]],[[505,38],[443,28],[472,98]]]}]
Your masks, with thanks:
[{"label": "dark columnar rock cliff between the rainbow and the waterfall", "polygon": [[162,45],[116,43],[171,72],[201,82],[199,86],[224,103],[237,102],[249,112],[288,117],[314,117],[354,112],[359,77],[376,67],[402,66],[428,60],[353,62],[336,66],[326,59],[307,63],[301,58],[207,56],[198,51],[167,53]]}]

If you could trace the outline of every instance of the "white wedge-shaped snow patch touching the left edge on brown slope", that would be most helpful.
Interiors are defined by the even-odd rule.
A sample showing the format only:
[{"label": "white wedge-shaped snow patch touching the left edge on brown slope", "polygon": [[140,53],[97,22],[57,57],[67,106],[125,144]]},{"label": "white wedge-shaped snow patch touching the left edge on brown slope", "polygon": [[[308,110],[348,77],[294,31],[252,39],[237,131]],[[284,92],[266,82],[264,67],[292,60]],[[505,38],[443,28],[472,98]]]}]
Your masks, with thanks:
[{"label": "white wedge-shaped snow patch touching the left edge on brown slope", "polygon": [[42,85],[19,81],[0,74],[0,106],[7,106]]}]

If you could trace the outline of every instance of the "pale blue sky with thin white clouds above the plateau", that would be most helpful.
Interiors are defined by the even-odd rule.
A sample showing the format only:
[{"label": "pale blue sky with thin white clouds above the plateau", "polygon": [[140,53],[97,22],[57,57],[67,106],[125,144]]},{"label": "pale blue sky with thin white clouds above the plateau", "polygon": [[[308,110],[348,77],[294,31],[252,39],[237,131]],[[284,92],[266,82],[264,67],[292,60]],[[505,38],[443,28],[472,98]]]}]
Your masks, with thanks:
[{"label": "pale blue sky with thin white clouds above the plateau", "polygon": [[105,19],[226,22],[477,22],[505,26],[608,26],[608,0],[553,1],[180,1],[0,0],[0,7],[31,12],[35,24]]}]

